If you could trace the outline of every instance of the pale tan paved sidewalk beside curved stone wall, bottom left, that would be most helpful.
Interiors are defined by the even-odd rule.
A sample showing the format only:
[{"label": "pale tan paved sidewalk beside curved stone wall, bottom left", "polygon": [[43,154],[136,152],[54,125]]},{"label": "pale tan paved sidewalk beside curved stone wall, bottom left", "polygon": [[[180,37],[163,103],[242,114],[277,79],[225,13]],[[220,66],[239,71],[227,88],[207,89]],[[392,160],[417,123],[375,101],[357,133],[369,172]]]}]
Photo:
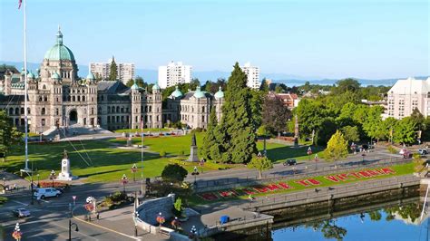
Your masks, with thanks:
[{"label": "pale tan paved sidewalk beside curved stone wall, bottom left", "polygon": [[108,210],[100,213],[100,219],[97,220],[95,215],[91,216],[91,222],[87,221],[85,215],[88,212],[83,206],[77,206],[73,209],[73,217],[81,222],[94,227],[103,228],[107,231],[126,236],[134,240],[169,240],[166,236],[155,236],[148,232],[142,231],[138,227],[138,236],[134,236],[134,222],[132,220],[133,206],[122,207],[119,209]]}]

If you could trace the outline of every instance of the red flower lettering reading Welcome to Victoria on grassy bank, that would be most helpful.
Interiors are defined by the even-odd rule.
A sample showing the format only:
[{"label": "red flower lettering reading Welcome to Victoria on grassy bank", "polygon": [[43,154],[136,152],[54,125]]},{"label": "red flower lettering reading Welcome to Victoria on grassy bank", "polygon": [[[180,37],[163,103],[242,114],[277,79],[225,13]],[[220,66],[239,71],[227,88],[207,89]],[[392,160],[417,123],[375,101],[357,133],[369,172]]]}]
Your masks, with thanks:
[{"label": "red flower lettering reading Welcome to Victoria on grassy bank", "polygon": [[[366,170],[360,170],[360,171],[354,171],[354,172],[348,172],[348,173],[340,173],[336,175],[328,175],[328,176],[324,176],[324,178],[326,178],[331,182],[339,183],[347,180],[373,178],[376,176],[384,176],[384,175],[392,175],[392,174],[396,174],[396,171],[394,169],[383,168],[383,169],[366,169]],[[312,187],[312,186],[318,186],[322,184],[322,182],[316,178],[306,178],[306,179],[296,180],[294,182],[304,187]],[[265,185],[252,186],[248,188],[227,189],[227,190],[221,190],[218,192],[200,193],[198,194],[198,196],[204,199],[205,201],[214,201],[214,200],[219,200],[220,198],[234,198],[234,197],[245,196],[245,195],[248,196],[248,195],[254,195],[259,193],[270,193],[270,192],[275,192],[283,189],[291,189],[291,188],[293,187],[289,186],[287,182],[278,182],[278,183],[269,183]]]}]

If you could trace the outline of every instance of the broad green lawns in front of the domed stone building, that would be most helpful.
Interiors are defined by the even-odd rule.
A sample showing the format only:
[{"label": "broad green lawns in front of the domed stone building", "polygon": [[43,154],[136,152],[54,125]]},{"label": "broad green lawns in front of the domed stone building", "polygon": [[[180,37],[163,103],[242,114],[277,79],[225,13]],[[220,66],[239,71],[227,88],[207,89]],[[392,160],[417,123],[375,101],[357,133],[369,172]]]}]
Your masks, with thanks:
[{"label": "broad green lawns in front of the domed stone building", "polygon": [[[203,133],[196,133],[198,146],[201,146]],[[133,143],[140,144],[141,138],[133,138]],[[119,149],[118,145],[124,146],[125,139],[112,140],[85,140],[56,143],[31,143],[29,144],[29,159],[30,168],[37,170],[40,179],[49,177],[52,169],[56,173],[60,171],[61,159],[63,151],[66,149],[72,162],[73,175],[84,178],[86,182],[98,181],[118,181],[122,174],[126,174],[129,179],[132,179],[132,164],[137,163],[141,169],[141,151],[140,149]],[[190,155],[191,134],[186,136],[166,136],[166,137],[145,137],[143,143],[147,149],[144,153],[143,161],[143,176],[144,178],[152,178],[161,175],[161,171],[165,165],[177,159],[187,159]],[[260,150],[263,149],[263,143],[257,144]],[[268,143],[268,156],[275,162],[282,161],[288,158],[307,159],[307,148],[293,149],[288,146],[276,143]],[[161,159],[159,152],[164,150],[167,158]],[[183,151],[184,156],[180,156]],[[318,151],[318,149],[314,149]],[[192,171],[196,165],[194,163],[181,162],[189,171]],[[220,165],[207,163],[204,165],[203,171],[213,169],[234,168],[237,165]],[[239,165],[239,167],[243,167]],[[0,169],[19,173],[19,169],[24,168],[24,149],[16,150],[11,153],[6,162],[0,162]],[[136,173],[136,177],[141,177],[141,172]],[[34,177],[34,179],[36,179]]]}]

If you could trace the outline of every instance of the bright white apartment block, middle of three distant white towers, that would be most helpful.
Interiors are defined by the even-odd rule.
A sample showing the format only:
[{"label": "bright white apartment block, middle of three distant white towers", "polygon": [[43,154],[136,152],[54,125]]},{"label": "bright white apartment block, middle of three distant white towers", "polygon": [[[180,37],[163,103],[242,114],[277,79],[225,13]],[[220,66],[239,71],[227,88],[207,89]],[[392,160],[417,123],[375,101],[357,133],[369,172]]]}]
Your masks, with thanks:
[{"label": "bright white apartment block, middle of three distant white towers", "polygon": [[171,62],[167,66],[158,67],[158,84],[161,89],[175,86],[179,83],[191,82],[191,65],[181,62]]}]

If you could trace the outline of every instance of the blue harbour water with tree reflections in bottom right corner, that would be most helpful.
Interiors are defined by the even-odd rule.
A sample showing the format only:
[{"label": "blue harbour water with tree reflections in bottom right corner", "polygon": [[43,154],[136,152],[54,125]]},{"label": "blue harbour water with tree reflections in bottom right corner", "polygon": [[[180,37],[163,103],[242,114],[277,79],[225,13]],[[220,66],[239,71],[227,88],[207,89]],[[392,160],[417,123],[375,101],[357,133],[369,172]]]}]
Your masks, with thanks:
[{"label": "blue harbour water with tree reflections in bottom right corner", "polygon": [[[422,206],[421,206],[422,207]],[[403,206],[310,221],[272,231],[273,240],[430,240],[430,219],[419,221],[418,201]],[[428,214],[430,215],[430,213]],[[428,216],[425,215],[425,216]]]}]

